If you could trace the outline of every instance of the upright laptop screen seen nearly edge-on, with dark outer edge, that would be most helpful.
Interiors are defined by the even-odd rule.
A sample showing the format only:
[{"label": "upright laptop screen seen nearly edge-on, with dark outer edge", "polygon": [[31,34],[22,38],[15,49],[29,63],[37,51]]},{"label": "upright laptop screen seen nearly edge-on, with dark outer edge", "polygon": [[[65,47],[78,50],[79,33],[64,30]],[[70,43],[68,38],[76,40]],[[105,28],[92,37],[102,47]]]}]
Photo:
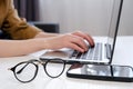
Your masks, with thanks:
[{"label": "upright laptop screen seen nearly edge-on, with dark outer edge", "polygon": [[113,0],[112,16],[109,28],[108,43],[111,44],[111,62],[113,58],[115,40],[117,36],[123,0]]}]

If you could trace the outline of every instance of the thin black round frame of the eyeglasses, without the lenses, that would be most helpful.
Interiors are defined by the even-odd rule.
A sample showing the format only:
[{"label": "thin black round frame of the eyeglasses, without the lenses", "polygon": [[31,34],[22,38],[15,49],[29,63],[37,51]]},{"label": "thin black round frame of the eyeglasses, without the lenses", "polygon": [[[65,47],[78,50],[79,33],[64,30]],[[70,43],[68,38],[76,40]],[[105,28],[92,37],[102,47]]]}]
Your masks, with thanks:
[{"label": "thin black round frame of the eyeglasses, without the lenses", "polygon": [[[61,71],[61,73],[58,75],[58,76],[55,76],[55,77],[50,76],[50,75],[48,73],[47,69],[45,69],[47,63],[51,62],[52,60],[60,60],[60,61],[62,61],[62,63],[63,63],[63,69],[62,69],[62,71]],[[34,63],[34,62],[38,62],[38,63]],[[35,73],[34,73],[33,78],[30,79],[30,80],[28,80],[28,81],[22,81],[22,80],[20,80],[20,79],[17,77],[17,75],[16,75],[16,68],[17,68],[18,66],[22,65],[22,63],[27,63],[27,65],[32,63],[32,65],[34,65],[34,67],[35,67]],[[45,73],[48,75],[48,77],[50,77],[50,78],[58,78],[58,77],[60,77],[60,76],[63,73],[64,69],[65,69],[65,61],[62,60],[62,59],[57,58],[57,59],[50,59],[50,60],[37,60],[37,59],[31,59],[31,60],[28,60],[28,61],[19,62],[18,65],[16,65],[16,66],[12,67],[12,68],[9,68],[8,70],[13,71],[13,75],[14,75],[14,77],[16,77],[17,80],[19,80],[20,82],[27,83],[27,82],[32,81],[32,80],[37,77],[38,70],[39,70],[39,65],[40,65],[40,63],[43,66],[44,72],[45,72]],[[55,62],[55,63],[61,63],[61,62]],[[24,66],[24,67],[25,67],[25,66]],[[24,67],[23,67],[23,68],[24,68]],[[23,69],[23,68],[22,68],[22,69]]]}]

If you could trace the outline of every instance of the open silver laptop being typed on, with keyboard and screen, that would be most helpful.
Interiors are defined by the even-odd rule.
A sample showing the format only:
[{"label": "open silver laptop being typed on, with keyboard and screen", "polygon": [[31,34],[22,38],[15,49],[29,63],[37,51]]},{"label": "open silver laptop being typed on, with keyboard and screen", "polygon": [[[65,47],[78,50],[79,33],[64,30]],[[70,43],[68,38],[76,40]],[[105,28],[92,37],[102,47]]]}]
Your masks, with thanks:
[{"label": "open silver laptop being typed on, with keyboard and screen", "polygon": [[120,24],[123,0],[113,0],[109,34],[105,42],[95,42],[94,48],[89,48],[84,53],[72,49],[48,50],[40,60],[62,59],[66,63],[111,63]]}]

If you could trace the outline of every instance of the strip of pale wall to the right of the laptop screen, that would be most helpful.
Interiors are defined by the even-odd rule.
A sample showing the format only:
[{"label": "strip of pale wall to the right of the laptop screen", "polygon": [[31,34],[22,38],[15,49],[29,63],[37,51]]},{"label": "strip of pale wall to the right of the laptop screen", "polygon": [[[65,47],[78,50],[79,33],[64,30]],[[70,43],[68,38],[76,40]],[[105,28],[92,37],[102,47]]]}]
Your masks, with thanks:
[{"label": "strip of pale wall to the right of the laptop screen", "polygon": [[133,36],[133,0],[124,0],[119,32]]}]

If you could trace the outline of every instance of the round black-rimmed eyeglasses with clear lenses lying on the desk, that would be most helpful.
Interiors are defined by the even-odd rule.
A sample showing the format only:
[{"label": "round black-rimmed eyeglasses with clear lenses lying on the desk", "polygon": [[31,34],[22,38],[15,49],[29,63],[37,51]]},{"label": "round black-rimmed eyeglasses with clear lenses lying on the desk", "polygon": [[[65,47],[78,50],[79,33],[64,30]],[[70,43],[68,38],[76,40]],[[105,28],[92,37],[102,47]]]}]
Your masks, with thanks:
[{"label": "round black-rimmed eyeglasses with clear lenses lying on the desk", "polygon": [[9,68],[9,70],[13,71],[16,79],[19,80],[20,82],[30,82],[37,77],[39,63],[43,66],[45,73],[51,78],[60,77],[65,69],[65,62],[62,59],[50,60],[32,59],[29,61],[20,62],[14,67]]}]

